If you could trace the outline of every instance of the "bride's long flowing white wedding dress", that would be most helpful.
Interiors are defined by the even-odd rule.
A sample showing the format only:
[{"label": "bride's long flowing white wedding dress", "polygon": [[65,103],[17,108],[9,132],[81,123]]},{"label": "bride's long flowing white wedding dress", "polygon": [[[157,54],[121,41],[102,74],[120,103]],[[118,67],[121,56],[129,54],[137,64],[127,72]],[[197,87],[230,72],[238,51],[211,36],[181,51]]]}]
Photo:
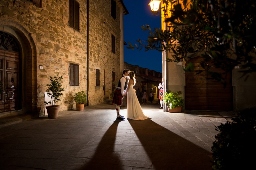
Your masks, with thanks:
[{"label": "bride's long flowing white wedding dress", "polygon": [[127,118],[132,120],[145,120],[148,117],[144,115],[135,91],[132,86],[130,86],[130,89],[127,91]]}]

